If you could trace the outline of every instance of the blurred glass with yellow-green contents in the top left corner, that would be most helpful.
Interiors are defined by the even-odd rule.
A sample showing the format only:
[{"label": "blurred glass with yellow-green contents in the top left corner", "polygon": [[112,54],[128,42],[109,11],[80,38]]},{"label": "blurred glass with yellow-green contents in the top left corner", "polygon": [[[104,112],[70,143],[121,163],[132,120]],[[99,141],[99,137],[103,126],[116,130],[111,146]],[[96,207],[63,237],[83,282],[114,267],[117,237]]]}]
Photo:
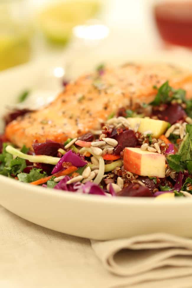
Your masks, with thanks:
[{"label": "blurred glass with yellow-green contents in the top left corner", "polygon": [[31,35],[26,1],[0,1],[0,71],[27,62]]}]

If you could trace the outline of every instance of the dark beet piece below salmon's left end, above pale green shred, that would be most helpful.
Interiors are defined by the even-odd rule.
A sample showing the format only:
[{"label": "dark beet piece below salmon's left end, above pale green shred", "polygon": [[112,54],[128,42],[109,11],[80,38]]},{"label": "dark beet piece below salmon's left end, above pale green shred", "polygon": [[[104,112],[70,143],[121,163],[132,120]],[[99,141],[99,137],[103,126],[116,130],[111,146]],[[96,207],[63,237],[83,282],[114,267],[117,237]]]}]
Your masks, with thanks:
[{"label": "dark beet piece below salmon's left end, above pale green shred", "polygon": [[59,148],[64,149],[64,145],[55,141],[46,141],[44,143],[32,144],[36,155],[56,156]]}]

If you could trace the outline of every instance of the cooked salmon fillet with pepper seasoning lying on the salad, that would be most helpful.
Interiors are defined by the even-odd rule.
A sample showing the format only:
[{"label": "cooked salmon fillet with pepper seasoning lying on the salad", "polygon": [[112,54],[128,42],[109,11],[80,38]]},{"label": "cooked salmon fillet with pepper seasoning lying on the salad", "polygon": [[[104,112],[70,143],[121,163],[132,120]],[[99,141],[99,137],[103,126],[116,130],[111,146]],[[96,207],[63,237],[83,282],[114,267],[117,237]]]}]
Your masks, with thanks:
[{"label": "cooked salmon fillet with pepper seasoning lying on the salad", "polygon": [[121,107],[128,107],[130,99],[150,102],[165,81],[174,88],[183,88],[192,96],[192,74],[178,67],[162,65],[124,64],[105,68],[79,77],[67,85],[48,107],[18,117],[6,126],[5,135],[13,144],[31,147],[36,139],[64,143],[67,138],[80,136],[90,129],[100,129],[99,119]]}]

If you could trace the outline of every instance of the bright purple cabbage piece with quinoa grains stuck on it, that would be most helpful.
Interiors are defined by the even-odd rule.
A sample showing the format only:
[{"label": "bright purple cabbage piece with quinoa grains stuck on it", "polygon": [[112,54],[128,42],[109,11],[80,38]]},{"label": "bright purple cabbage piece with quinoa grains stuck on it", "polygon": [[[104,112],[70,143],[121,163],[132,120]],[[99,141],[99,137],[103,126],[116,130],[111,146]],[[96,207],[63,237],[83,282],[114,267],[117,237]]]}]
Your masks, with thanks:
[{"label": "bright purple cabbage piece with quinoa grains stuck on it", "polygon": [[65,155],[63,155],[63,157],[61,157],[61,159],[58,161],[58,163],[53,168],[53,171],[51,172],[51,174],[54,174],[54,173],[57,173],[57,172],[63,170],[63,166],[62,166],[63,162],[71,162],[72,165],[74,165],[76,167],[83,167],[87,164],[87,162],[82,160],[79,157],[79,155],[77,155],[77,154],[73,153],[71,150],[69,150]]}]

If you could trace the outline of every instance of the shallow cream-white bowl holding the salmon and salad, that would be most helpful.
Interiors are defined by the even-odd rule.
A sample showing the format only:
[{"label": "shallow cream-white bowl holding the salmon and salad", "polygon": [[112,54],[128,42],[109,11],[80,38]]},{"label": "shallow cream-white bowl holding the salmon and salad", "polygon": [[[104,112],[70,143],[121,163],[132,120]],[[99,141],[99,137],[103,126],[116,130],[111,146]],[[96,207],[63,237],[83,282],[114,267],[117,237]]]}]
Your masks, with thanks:
[{"label": "shallow cream-white bowl holding the salmon and salad", "polygon": [[[175,63],[175,58],[166,57]],[[155,59],[165,61],[166,57],[162,59],[160,54]],[[132,59],[127,58],[124,60]],[[185,66],[190,61],[180,58],[180,63]],[[95,59],[93,63],[95,65]],[[42,71],[47,69],[45,63],[35,63],[1,73],[0,114],[3,115],[6,105],[15,102],[15,96],[23,88],[34,87],[35,78],[43,77]],[[151,198],[80,195],[34,187],[2,175],[0,183],[2,206],[22,218],[59,232],[99,240],[151,232],[192,236],[191,198],[155,201]]]}]

